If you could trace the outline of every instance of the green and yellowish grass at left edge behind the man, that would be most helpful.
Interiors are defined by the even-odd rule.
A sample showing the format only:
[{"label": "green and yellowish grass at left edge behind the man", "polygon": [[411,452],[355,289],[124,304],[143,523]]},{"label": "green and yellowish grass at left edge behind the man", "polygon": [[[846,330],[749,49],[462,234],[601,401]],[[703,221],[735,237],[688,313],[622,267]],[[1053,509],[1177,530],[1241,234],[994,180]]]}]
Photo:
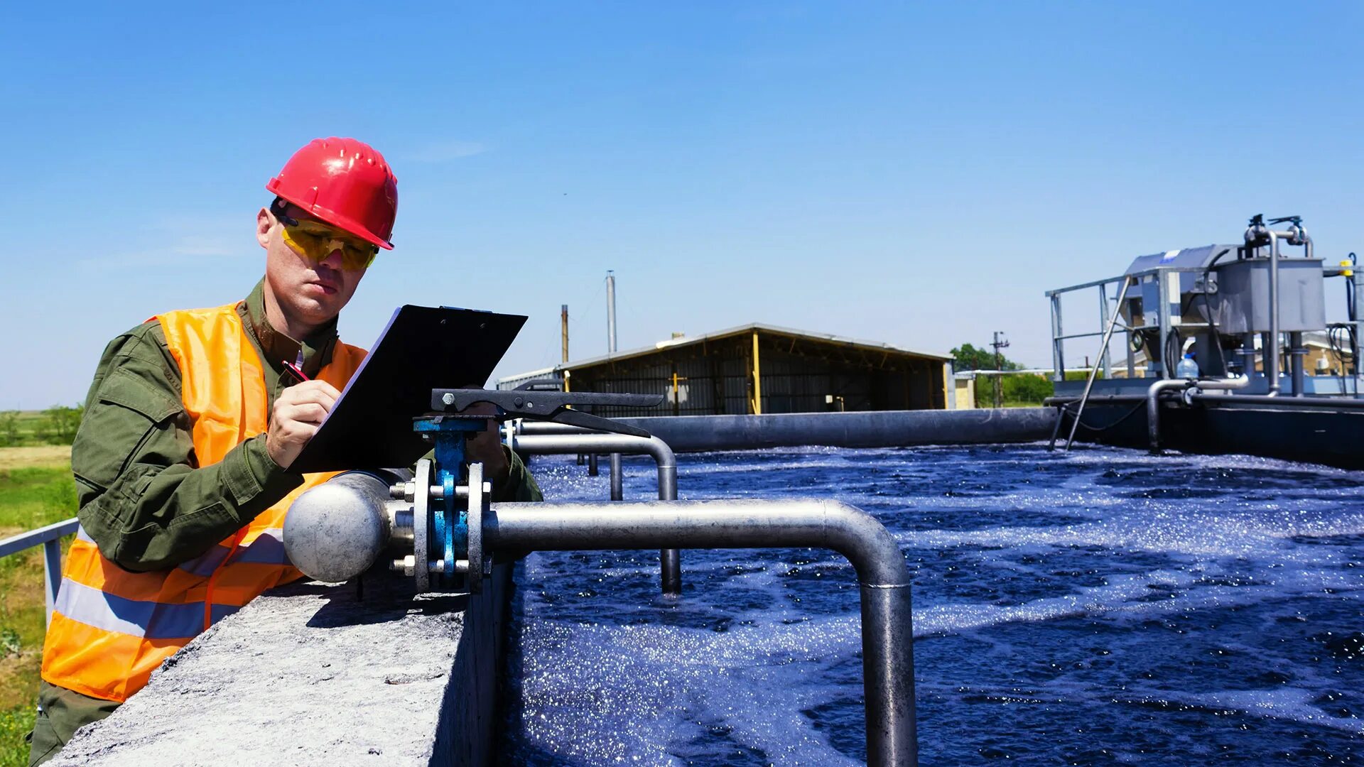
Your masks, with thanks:
[{"label": "green and yellowish grass at left edge behind the man", "polygon": [[[70,465],[0,469],[0,538],[64,520],[75,510]],[[67,536],[63,550],[70,545]],[[33,727],[45,624],[42,549],[0,558],[0,767],[29,763],[23,737]]]}]

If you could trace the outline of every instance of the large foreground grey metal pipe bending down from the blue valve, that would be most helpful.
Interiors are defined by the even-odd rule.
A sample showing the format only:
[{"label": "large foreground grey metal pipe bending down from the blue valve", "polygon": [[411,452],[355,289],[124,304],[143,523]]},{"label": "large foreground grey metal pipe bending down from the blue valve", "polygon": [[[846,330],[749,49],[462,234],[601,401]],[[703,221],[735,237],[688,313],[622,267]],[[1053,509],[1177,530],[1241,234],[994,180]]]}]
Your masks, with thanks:
[{"label": "large foreground grey metal pipe bending down from the blue valve", "polygon": [[820,547],[847,557],[862,599],[862,685],[869,764],[915,764],[910,573],[874,517],[837,501],[496,504],[492,550]]}]

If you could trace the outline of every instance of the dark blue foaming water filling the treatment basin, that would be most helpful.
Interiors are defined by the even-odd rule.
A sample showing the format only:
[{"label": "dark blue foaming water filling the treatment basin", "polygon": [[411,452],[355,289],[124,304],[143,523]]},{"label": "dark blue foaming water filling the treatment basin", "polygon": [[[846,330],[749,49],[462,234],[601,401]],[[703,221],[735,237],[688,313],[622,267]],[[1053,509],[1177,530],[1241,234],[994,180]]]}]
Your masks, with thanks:
[{"label": "dark blue foaming water filling the treatment basin", "polygon": [[[603,500],[572,459],[548,500]],[[626,498],[655,493],[626,460]],[[1364,760],[1364,476],[1041,446],[681,457],[683,498],[837,497],[914,572],[923,764]],[[858,598],[818,550],[535,554],[506,753],[532,764],[855,764]]]}]

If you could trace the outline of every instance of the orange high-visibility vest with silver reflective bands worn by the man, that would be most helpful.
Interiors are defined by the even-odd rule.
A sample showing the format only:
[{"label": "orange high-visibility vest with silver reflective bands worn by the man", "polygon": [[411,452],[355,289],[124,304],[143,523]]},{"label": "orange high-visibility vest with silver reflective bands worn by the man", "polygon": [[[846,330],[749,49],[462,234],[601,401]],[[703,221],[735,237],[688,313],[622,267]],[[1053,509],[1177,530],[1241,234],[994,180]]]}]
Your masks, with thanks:
[{"label": "orange high-visibility vest with silver reflective bands worn by the man", "polygon": [[[170,311],[157,319],[180,364],[199,465],[216,464],[269,424],[259,355],[236,304]],[[318,378],[344,388],[364,353],[338,341]],[[284,515],[300,493],[334,474],[304,475],[300,487],[235,535],[166,570],[128,572],[79,530],[48,626],[42,678],[93,697],[127,700],[162,661],[216,621],[303,575],[284,553]]]}]

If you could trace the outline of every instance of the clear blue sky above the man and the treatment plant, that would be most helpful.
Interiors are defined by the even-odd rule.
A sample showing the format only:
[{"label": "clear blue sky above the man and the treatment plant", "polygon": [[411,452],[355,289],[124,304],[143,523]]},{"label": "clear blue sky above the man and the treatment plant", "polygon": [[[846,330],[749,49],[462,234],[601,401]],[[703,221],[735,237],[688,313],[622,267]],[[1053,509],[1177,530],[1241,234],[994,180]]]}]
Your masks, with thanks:
[{"label": "clear blue sky above the man and the treatment plant", "polygon": [[401,201],[342,337],[401,303],[528,314],[499,375],[558,360],[562,303],[603,353],[607,269],[621,348],[760,321],[1005,330],[1049,364],[1046,288],[1260,212],[1364,248],[1354,3],[221,5],[0,11],[0,409],[244,296],[263,184],[322,135],[375,145]]}]

